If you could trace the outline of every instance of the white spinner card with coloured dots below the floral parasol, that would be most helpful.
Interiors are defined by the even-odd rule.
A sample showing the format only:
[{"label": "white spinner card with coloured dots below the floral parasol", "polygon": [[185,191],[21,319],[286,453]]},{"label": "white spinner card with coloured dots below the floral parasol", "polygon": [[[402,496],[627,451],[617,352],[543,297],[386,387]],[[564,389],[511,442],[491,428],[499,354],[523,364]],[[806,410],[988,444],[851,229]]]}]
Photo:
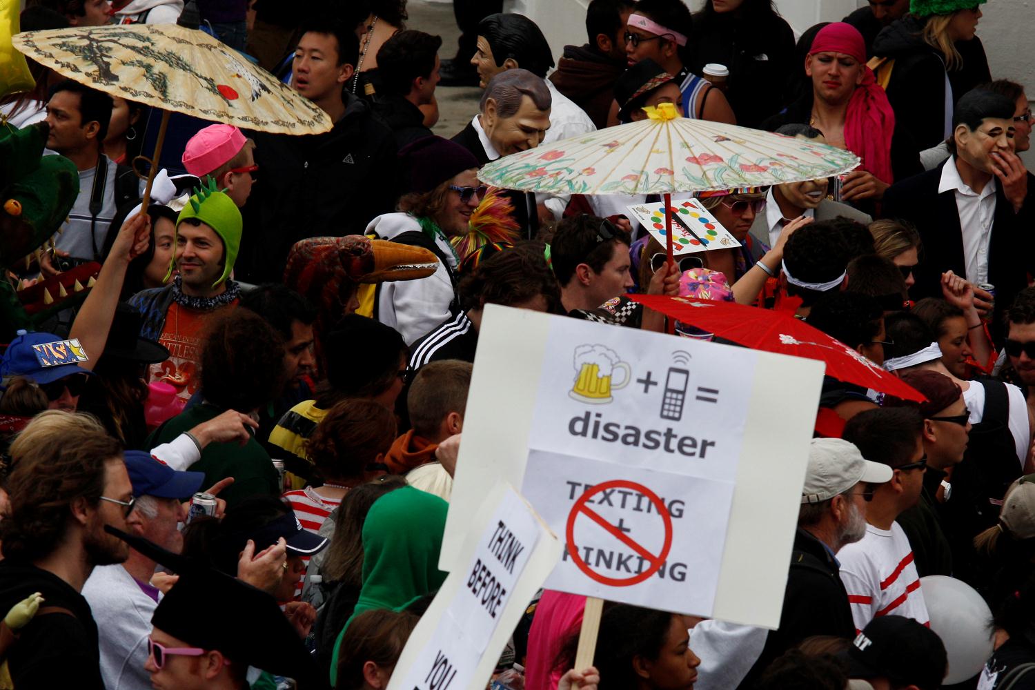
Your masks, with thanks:
[{"label": "white spinner card with coloured dots below the floral parasol", "polygon": [[668,212],[672,216],[673,251],[677,256],[740,246],[740,242],[697,199],[673,200],[668,209],[663,202],[626,208],[630,211],[629,217],[639,220],[661,246],[668,242],[664,218]]}]

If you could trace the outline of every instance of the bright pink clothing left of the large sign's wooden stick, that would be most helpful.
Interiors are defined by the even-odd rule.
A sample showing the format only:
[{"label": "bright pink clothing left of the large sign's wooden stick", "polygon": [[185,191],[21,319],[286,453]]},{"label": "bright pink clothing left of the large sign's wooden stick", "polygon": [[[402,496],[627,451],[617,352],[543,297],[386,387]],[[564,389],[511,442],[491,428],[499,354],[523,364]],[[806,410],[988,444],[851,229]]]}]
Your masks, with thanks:
[{"label": "bright pink clothing left of the large sign's wooden stick", "polygon": [[565,669],[554,662],[572,634],[582,626],[586,597],[546,590],[535,607],[528,633],[525,690],[557,690]]}]

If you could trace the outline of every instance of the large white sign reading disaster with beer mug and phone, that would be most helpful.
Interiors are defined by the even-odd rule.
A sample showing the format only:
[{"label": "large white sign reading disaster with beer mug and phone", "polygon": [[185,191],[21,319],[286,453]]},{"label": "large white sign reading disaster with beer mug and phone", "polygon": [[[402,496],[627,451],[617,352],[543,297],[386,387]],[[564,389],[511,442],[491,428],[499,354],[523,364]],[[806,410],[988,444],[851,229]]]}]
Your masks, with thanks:
[{"label": "large white sign reading disaster with beer mug and phone", "polygon": [[549,587],[776,627],[823,370],[486,306],[439,566],[502,480],[565,541]]}]

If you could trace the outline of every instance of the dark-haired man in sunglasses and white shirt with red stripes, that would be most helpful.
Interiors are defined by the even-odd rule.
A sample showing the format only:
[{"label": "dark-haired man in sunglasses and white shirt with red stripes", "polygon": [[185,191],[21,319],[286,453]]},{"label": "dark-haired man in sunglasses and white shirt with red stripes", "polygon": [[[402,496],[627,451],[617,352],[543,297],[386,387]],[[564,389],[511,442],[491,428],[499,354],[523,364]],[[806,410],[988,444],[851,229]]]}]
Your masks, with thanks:
[{"label": "dark-haired man in sunglasses and white shirt with red stripes", "polygon": [[889,481],[865,488],[865,536],[837,554],[857,630],[888,613],[929,622],[913,547],[895,521],[920,500],[927,468],[923,429],[923,416],[909,408],[867,410],[845,424],[841,438],[891,470]]}]

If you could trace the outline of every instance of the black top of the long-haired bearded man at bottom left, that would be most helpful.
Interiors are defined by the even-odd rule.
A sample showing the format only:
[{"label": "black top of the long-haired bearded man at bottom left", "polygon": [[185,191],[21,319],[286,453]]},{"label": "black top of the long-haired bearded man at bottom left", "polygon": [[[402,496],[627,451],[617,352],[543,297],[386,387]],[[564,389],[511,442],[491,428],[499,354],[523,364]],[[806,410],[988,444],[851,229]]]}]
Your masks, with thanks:
[{"label": "black top of the long-haired bearded man at bottom left", "polygon": [[[19,690],[89,688],[102,690],[97,624],[90,605],[63,579],[31,565],[0,562],[0,610],[33,592],[43,595],[40,611],[7,653],[7,665]],[[68,609],[46,612],[46,607]]]}]

